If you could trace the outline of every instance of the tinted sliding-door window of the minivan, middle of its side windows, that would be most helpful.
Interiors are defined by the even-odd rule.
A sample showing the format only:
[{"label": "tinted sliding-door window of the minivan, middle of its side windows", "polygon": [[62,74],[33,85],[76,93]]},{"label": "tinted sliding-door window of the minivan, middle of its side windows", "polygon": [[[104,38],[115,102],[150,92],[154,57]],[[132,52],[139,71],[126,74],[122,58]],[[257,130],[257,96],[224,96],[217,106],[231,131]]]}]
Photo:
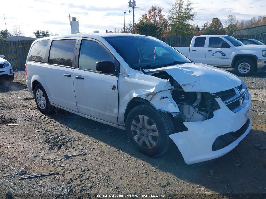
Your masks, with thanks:
[{"label": "tinted sliding-door window of the minivan, middle of its side windows", "polygon": [[75,44],[76,39],[52,41],[48,63],[72,67]]}]

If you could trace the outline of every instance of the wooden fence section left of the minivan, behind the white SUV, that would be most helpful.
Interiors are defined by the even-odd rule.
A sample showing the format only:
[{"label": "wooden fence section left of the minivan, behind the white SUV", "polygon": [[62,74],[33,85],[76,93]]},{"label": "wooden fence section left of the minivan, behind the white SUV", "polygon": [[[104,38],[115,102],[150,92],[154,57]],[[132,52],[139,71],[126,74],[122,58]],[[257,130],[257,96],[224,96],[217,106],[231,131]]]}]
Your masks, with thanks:
[{"label": "wooden fence section left of the minivan, behind the white SUV", "polygon": [[4,55],[14,69],[24,68],[33,41],[0,41],[0,55]]}]

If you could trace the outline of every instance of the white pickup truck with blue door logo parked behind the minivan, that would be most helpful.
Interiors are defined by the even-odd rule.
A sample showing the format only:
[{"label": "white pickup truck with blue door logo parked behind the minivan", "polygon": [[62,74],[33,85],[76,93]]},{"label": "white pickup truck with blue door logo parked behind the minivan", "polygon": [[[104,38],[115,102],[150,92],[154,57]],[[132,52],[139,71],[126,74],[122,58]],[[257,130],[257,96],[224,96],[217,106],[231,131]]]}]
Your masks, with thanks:
[{"label": "white pickup truck with blue door logo parked behind the minivan", "polygon": [[190,47],[175,47],[194,62],[215,67],[235,68],[240,76],[266,72],[266,46],[244,45],[228,35],[201,35],[192,38]]}]

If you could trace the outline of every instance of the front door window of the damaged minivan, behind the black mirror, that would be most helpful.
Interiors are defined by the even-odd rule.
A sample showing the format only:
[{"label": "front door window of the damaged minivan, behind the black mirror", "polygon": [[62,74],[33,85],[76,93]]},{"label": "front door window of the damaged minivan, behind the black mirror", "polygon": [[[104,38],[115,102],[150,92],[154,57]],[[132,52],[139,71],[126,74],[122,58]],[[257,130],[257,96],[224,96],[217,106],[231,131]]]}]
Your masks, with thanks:
[{"label": "front door window of the damaged minivan, behind the black mirror", "polygon": [[114,58],[101,44],[92,40],[82,40],[78,68],[96,71],[96,62],[101,60],[114,62]]}]

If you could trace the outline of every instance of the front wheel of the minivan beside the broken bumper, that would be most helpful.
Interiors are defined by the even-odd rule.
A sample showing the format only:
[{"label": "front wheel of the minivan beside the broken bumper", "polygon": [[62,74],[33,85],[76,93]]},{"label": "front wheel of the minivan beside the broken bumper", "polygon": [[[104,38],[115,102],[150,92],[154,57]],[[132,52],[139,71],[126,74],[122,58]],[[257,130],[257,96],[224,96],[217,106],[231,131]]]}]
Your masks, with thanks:
[{"label": "front wheel of the minivan beside the broken bumper", "polygon": [[126,130],[129,140],[142,153],[159,156],[170,148],[173,122],[169,115],[159,112],[151,105],[142,104],[127,115]]}]

